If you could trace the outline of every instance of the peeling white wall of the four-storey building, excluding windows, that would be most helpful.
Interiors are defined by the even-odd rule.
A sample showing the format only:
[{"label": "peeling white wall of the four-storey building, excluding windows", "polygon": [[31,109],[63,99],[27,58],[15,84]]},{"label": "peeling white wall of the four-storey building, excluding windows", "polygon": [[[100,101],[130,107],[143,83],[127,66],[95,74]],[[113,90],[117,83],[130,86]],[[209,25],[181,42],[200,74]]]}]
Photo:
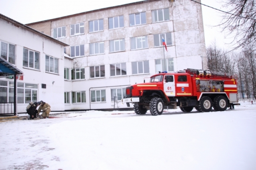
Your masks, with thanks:
[{"label": "peeling white wall of the four-storey building, excluding windows", "polygon": [[[199,0],[200,1],[200,0]],[[152,23],[152,10],[169,9],[169,21]],[[146,12],[146,24],[130,26],[129,14]],[[124,27],[108,29],[108,18],[124,16]],[[104,20],[104,30],[89,33],[89,21]],[[84,23],[84,34],[70,35],[70,25]],[[65,109],[107,109],[113,108],[111,102],[112,88],[126,88],[126,86],[143,82],[157,72],[156,59],[173,59],[174,71],[185,68],[206,69],[206,47],[202,23],[202,9],[200,4],[190,0],[160,0],[132,4],[116,8],[107,8],[96,12],[64,17],[51,21],[51,33],[55,28],[66,26],[66,37],[60,41],[70,46],[84,45],[85,55],[74,57],[71,68],[85,68],[83,80],[65,80],[65,91],[70,92],[70,104]],[[168,52],[163,47],[154,47],[154,34],[171,33],[172,45]],[[148,48],[131,50],[130,38],[138,36],[148,37]],[[109,41],[125,40],[125,51],[110,53]],[[104,54],[89,55],[89,44],[104,42]],[[70,55],[70,47],[66,48]],[[148,61],[150,72],[146,74],[132,74],[132,62]],[[66,60],[65,60],[66,62]],[[68,61],[70,65],[70,61]],[[126,63],[125,76],[110,76],[110,64]],[[90,78],[90,66],[105,66],[104,78]],[[148,80],[148,79],[146,79]],[[66,87],[67,86],[67,87]],[[90,102],[92,90],[106,90],[106,102]],[[71,92],[86,91],[86,103],[71,104]],[[120,103],[119,103],[120,106]],[[126,108],[126,106],[120,106]]]}]

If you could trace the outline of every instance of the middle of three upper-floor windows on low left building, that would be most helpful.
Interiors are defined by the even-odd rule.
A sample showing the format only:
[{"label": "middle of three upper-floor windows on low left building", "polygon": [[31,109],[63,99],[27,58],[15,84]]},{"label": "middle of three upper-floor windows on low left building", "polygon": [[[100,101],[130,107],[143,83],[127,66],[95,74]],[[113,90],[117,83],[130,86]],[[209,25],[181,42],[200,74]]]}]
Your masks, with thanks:
[{"label": "middle of three upper-floor windows on low left building", "polygon": [[23,49],[23,66],[39,70],[39,53]]}]

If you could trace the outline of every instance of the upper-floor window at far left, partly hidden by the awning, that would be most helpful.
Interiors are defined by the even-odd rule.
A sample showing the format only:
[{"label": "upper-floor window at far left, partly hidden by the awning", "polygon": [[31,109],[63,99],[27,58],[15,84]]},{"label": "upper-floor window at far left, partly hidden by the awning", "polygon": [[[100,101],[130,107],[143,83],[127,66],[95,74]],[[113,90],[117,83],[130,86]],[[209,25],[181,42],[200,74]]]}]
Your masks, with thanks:
[{"label": "upper-floor window at far left, partly hidden by the awning", "polygon": [[0,53],[1,57],[3,57],[6,61],[15,64],[15,45],[1,42]]}]

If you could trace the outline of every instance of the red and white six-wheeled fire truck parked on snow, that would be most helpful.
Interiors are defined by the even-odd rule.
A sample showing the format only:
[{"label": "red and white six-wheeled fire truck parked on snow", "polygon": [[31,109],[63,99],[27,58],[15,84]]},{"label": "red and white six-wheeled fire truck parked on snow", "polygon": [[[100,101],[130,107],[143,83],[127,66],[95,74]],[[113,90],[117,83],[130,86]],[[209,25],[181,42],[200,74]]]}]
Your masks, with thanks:
[{"label": "red and white six-wheeled fire truck parked on snow", "polygon": [[238,103],[237,78],[229,73],[187,68],[177,73],[158,72],[149,82],[126,88],[122,104],[133,104],[138,115],[161,115],[164,106],[190,112],[225,111]]}]

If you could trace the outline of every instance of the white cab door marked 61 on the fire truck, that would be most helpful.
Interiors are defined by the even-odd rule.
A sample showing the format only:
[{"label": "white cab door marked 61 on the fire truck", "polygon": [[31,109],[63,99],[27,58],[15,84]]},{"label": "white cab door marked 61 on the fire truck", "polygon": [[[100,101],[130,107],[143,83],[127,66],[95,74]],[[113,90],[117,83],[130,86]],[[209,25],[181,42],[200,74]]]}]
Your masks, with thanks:
[{"label": "white cab door marked 61 on the fire truck", "polygon": [[175,96],[175,81],[173,75],[165,75],[164,93],[166,96]]}]

